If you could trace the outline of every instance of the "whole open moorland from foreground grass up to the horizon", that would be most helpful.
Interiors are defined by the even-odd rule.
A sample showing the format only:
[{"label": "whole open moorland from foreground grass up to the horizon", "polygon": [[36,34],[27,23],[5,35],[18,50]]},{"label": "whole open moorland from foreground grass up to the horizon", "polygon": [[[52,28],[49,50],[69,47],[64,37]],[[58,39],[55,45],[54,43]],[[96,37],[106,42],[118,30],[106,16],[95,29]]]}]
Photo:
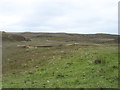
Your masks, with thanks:
[{"label": "whole open moorland from foreground grass up to the horizon", "polygon": [[118,88],[118,36],[3,33],[3,88]]}]

